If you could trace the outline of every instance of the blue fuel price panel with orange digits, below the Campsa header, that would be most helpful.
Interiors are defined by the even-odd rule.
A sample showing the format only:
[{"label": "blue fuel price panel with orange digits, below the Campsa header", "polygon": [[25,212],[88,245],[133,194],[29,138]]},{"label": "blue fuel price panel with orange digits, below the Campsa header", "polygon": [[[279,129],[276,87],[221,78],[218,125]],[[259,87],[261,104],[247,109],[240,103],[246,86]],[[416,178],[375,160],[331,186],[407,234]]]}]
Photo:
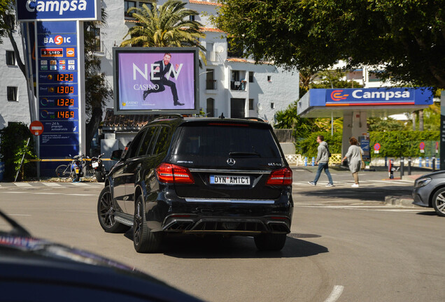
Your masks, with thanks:
[{"label": "blue fuel price panel with orange digits, below the Campsa header", "polygon": [[[79,152],[79,87],[77,25],[37,22],[38,120],[44,157]],[[57,146],[57,148],[55,148]]]}]

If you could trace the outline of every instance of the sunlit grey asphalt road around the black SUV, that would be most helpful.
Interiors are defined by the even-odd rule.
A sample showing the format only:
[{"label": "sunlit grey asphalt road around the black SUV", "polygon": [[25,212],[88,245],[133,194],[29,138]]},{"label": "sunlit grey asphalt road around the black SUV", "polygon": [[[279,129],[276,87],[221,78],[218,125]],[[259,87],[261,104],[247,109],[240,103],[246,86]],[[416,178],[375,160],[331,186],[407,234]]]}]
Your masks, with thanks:
[{"label": "sunlit grey asphalt road around the black SUV", "polygon": [[[135,266],[206,301],[445,301],[445,218],[428,208],[387,206],[411,194],[409,180],[332,169],[316,187],[294,169],[292,233],[281,252],[253,238],[169,238],[164,252],[138,254],[131,235],[104,233],[97,183],[0,183],[0,209],[34,236]],[[0,228],[5,227],[0,222]]]}]

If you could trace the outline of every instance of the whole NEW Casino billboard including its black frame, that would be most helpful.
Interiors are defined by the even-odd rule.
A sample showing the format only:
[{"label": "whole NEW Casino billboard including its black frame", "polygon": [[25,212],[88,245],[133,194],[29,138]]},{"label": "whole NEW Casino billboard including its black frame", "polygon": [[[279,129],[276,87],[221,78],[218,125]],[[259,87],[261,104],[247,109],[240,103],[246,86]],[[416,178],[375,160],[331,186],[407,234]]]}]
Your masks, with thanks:
[{"label": "whole NEW Casino billboard including its black frame", "polygon": [[115,114],[198,113],[197,48],[113,48]]}]

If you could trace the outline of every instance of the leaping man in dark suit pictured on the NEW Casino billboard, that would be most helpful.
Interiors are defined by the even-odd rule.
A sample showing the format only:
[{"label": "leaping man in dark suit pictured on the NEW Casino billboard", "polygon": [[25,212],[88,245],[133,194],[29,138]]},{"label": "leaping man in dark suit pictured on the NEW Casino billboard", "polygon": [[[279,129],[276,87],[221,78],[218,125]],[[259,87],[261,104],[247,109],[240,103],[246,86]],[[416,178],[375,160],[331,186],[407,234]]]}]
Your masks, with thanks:
[{"label": "leaping man in dark suit pictured on the NEW Casino billboard", "polygon": [[[171,59],[171,53],[167,52],[164,54],[164,59],[154,63],[155,66],[157,66],[157,67],[155,68],[155,73],[153,73],[153,78],[150,77],[150,81],[153,82],[154,87],[151,87],[143,92],[142,98],[144,101],[147,98],[148,94],[156,93],[156,92],[163,92],[165,90],[165,86],[169,86],[171,89],[171,94],[173,94],[174,106],[183,106],[184,105],[184,103],[180,103],[178,101],[178,91],[176,90],[176,83],[171,80],[168,80],[165,76],[167,73],[169,73],[169,71],[172,67],[171,63],[170,63],[170,59]],[[178,71],[178,67],[179,67],[179,65],[176,64],[175,65],[176,71]],[[173,76],[174,76],[174,73],[173,73]]]}]

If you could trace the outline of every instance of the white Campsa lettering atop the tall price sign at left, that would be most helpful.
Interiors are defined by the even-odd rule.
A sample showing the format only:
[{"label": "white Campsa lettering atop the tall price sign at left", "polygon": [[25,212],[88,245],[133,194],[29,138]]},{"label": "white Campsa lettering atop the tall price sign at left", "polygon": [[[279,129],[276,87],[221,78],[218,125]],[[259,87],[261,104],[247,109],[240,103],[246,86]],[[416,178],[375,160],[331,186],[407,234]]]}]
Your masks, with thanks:
[{"label": "white Campsa lettering atop the tall price sign at left", "polygon": [[63,15],[64,12],[70,10],[87,10],[87,1],[85,0],[27,0],[26,8],[30,13],[34,12],[59,12]]}]

